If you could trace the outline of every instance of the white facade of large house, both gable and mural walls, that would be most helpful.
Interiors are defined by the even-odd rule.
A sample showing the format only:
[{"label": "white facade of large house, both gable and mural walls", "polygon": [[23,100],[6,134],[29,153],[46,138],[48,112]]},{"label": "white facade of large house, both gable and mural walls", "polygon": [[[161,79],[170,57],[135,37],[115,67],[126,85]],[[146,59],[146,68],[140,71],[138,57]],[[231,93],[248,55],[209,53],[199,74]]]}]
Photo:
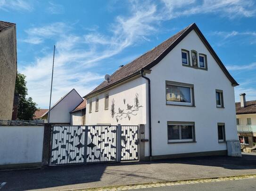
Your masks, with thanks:
[{"label": "white facade of large house, both gable and mural walls", "polygon": [[[182,49],[196,50],[198,53],[206,54],[207,70],[182,66]],[[152,156],[226,150],[226,143],[218,141],[217,123],[225,123],[226,140],[238,140],[234,87],[194,30],[152,67],[151,73],[146,76],[151,81]],[[166,80],[193,84],[195,107],[166,105]],[[224,108],[216,107],[216,89],[223,91]],[[106,93],[109,94],[108,110],[104,110]],[[115,108],[118,112],[118,107],[121,110],[125,108],[124,98],[127,103],[133,104],[135,93],[139,94],[140,105],[143,107],[139,108],[137,115],[131,116],[130,121],[123,118],[117,122],[116,115],[113,118],[110,115],[112,99],[115,99]],[[139,77],[111,90],[93,95],[91,113],[89,112],[90,97],[88,97],[86,124],[145,124],[145,138],[149,139],[148,96],[148,82]],[[99,111],[95,112],[95,100],[98,97]],[[170,121],[194,122],[195,142],[168,143],[167,122]],[[149,142],[145,145],[145,156],[149,156]]]}]

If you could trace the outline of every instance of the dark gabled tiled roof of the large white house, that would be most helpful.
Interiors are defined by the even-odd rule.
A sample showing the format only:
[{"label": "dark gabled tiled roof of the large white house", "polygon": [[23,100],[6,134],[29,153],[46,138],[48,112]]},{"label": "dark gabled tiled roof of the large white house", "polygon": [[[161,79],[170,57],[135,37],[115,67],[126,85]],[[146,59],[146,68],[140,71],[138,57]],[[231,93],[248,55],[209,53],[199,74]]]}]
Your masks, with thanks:
[{"label": "dark gabled tiled roof of the large white house", "polygon": [[167,53],[169,53],[177,44],[179,44],[183,38],[185,38],[190,31],[195,30],[198,34],[198,36],[201,38],[209,52],[212,54],[212,56],[215,58],[216,62],[219,64],[225,75],[228,77],[228,79],[231,81],[231,84],[233,86],[239,85],[234,78],[230,75],[228,70],[223,65],[222,61],[219,59],[213,48],[210,46],[210,44],[207,42],[206,38],[202,34],[202,32],[198,29],[196,23],[190,24],[188,27],[183,29],[182,31],[179,31],[178,33],[174,34],[171,38],[168,38],[164,42],[162,42],[160,45],[156,46],[152,50],[150,50],[147,53],[144,53],[134,61],[126,64],[120,69],[117,69],[116,72],[114,72],[110,78],[109,81],[102,82],[99,84],[98,87],[96,87],[93,91],[88,93],[84,98],[87,98],[93,93],[102,91],[104,89],[107,89],[110,86],[113,86],[115,84],[118,84],[125,79],[128,79],[132,76],[136,76],[140,74],[140,71],[142,69],[151,69],[153,66],[155,66],[159,61],[161,61]]}]

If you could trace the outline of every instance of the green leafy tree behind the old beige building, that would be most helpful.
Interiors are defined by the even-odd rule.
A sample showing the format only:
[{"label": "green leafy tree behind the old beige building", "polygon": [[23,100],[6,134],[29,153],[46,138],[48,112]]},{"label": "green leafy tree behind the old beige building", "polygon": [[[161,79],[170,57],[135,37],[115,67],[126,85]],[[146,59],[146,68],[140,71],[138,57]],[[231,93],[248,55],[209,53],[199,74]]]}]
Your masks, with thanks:
[{"label": "green leafy tree behind the old beige building", "polygon": [[19,95],[18,104],[18,120],[32,120],[34,113],[37,110],[37,104],[33,102],[32,98],[26,98],[27,87],[26,87],[26,76],[24,74],[17,74],[15,93]]}]

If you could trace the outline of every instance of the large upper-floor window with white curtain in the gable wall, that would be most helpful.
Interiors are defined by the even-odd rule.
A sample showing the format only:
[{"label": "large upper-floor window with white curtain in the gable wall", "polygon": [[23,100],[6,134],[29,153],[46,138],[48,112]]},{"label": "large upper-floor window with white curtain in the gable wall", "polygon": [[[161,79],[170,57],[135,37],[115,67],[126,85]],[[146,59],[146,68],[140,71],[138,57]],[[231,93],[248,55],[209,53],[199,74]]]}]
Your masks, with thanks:
[{"label": "large upper-floor window with white curtain in the gable wall", "polygon": [[166,81],[166,104],[194,106],[194,85]]}]

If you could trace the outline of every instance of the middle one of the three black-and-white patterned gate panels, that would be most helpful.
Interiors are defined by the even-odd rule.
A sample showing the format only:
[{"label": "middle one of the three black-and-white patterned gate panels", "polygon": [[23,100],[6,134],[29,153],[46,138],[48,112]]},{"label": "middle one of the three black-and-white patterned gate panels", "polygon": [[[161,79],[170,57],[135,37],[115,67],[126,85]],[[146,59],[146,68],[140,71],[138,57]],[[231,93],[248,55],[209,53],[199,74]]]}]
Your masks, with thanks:
[{"label": "middle one of the three black-and-white patterned gate panels", "polygon": [[87,162],[116,161],[117,126],[88,126]]}]

